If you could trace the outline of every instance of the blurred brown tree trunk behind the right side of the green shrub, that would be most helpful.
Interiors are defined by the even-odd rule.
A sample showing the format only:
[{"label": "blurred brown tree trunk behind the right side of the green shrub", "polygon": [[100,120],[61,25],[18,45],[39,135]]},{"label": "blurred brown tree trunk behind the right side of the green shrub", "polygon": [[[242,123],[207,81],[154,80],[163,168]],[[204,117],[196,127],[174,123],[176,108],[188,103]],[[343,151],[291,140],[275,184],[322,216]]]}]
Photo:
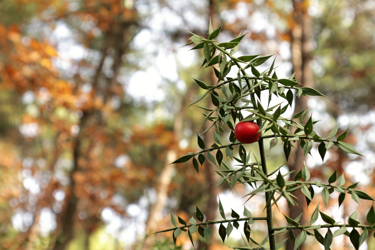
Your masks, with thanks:
[{"label": "blurred brown tree trunk behind the right side of the green shrub", "polygon": [[[309,63],[311,61],[311,17],[307,13],[308,6],[305,2],[294,0],[293,7],[294,23],[293,27],[291,27],[291,62],[293,65],[293,71],[295,72],[296,80],[300,81],[304,87],[313,87],[314,82],[312,78],[312,71],[309,66]],[[303,110],[304,108],[306,108],[306,106],[306,96],[295,98],[295,113]],[[288,162],[289,170],[295,170],[291,174],[292,179],[304,164],[303,148],[300,147],[299,143],[296,143],[295,147],[296,149],[291,151]],[[305,196],[301,193],[300,190],[296,191],[293,194],[296,195],[299,199],[297,200],[298,206],[291,206],[290,208],[289,216],[294,219],[306,210],[306,202]],[[305,224],[306,218],[302,216],[299,223]],[[300,230],[295,230],[294,233],[297,236],[300,233]],[[294,247],[291,241],[287,241],[286,249],[293,248]],[[303,249],[303,246],[301,246],[300,249]]]}]

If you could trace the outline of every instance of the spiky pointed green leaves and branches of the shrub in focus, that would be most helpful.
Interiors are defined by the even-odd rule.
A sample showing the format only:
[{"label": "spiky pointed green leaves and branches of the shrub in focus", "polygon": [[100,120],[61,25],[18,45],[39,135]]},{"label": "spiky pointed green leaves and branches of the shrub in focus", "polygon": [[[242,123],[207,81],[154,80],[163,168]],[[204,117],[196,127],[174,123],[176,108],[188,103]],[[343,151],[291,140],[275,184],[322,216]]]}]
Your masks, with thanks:
[{"label": "spiky pointed green leaves and branches of the shrub in focus", "polygon": [[[256,245],[256,248],[270,248],[278,249],[285,243],[285,241],[276,244],[275,236],[278,233],[285,232],[289,230],[289,238],[294,244],[294,249],[298,249],[307,239],[308,236],[315,236],[318,242],[320,242],[324,249],[330,249],[333,238],[345,234],[350,237],[354,248],[358,249],[359,246],[365,241],[368,231],[374,230],[375,224],[375,210],[374,206],[368,212],[367,221],[369,225],[364,225],[357,220],[357,211],[355,211],[348,218],[347,224],[339,224],[332,218],[330,215],[325,214],[319,210],[319,204],[317,205],[315,211],[312,214],[310,224],[305,226],[299,223],[299,220],[302,216],[300,214],[297,218],[293,219],[284,215],[288,226],[286,227],[271,227],[272,225],[272,203],[277,205],[277,202],[284,198],[287,200],[288,204],[296,205],[295,196],[292,194],[294,191],[301,189],[303,195],[306,197],[308,205],[312,202],[314,198],[314,187],[321,189],[321,196],[323,198],[324,204],[329,205],[330,194],[334,191],[338,191],[339,194],[339,205],[342,204],[345,195],[351,194],[352,199],[355,202],[360,202],[360,199],[365,200],[375,200],[368,194],[363,191],[354,190],[356,184],[350,185],[349,187],[344,187],[345,178],[344,175],[337,176],[337,170],[332,173],[332,175],[325,182],[319,182],[316,180],[310,180],[311,175],[309,169],[306,165],[301,166],[301,170],[295,175],[293,181],[288,181],[285,179],[285,176],[289,175],[287,173],[282,175],[279,169],[275,170],[272,173],[267,171],[266,167],[266,158],[264,153],[263,140],[267,138],[273,138],[270,141],[270,149],[275,146],[279,140],[284,144],[284,154],[285,158],[288,161],[292,141],[299,141],[299,145],[303,148],[305,157],[310,154],[313,145],[316,143],[318,145],[318,152],[324,160],[327,149],[331,146],[338,146],[341,150],[349,153],[361,155],[353,146],[348,143],[341,142],[345,139],[347,131],[340,134],[335,138],[338,131],[338,127],[335,127],[327,136],[324,137],[317,134],[314,131],[314,124],[317,121],[312,119],[312,116],[309,117],[307,122],[303,124],[302,120],[305,119],[307,110],[302,110],[294,117],[284,117],[283,113],[285,112],[288,105],[293,104],[293,93],[292,89],[296,91],[296,95],[309,95],[309,96],[324,96],[322,93],[308,87],[297,87],[300,85],[294,76],[289,79],[278,79],[274,65],[263,72],[260,72],[257,69],[257,66],[262,65],[272,56],[259,57],[259,55],[248,55],[248,56],[233,56],[235,50],[233,48],[238,48],[241,39],[244,37],[238,36],[236,39],[233,39],[230,42],[218,43],[213,39],[216,38],[221,30],[222,26],[213,31],[210,23],[208,38],[203,38],[197,36],[193,33],[190,40],[193,43],[198,43],[194,49],[203,49],[204,52],[204,62],[202,66],[204,68],[213,67],[215,74],[218,78],[217,84],[215,86],[208,86],[200,80],[196,80],[196,83],[199,87],[204,90],[207,90],[204,95],[198,98],[191,105],[196,104],[201,99],[205,98],[210,94],[212,103],[214,104],[213,109],[200,107],[208,113],[204,114],[204,119],[202,124],[210,120],[213,124],[206,129],[202,134],[207,133],[210,128],[213,129],[213,139],[215,141],[214,145],[210,148],[206,148],[204,141],[202,140],[201,135],[198,134],[198,146],[202,150],[196,153],[189,153],[178,158],[174,163],[182,163],[189,161],[193,158],[193,166],[198,172],[198,163],[195,160],[195,156],[198,155],[199,162],[202,164],[204,161],[204,153],[206,153],[208,160],[214,163],[220,170],[217,173],[222,177],[218,185],[221,185],[223,182],[227,182],[230,188],[234,184],[243,184],[250,185],[254,188],[254,191],[247,194],[248,200],[258,194],[265,194],[266,205],[265,209],[267,212],[267,217],[252,217],[251,212],[245,208],[243,215],[245,217],[240,217],[240,215],[231,210],[231,219],[225,217],[225,211],[223,210],[222,203],[219,199],[219,212],[223,220],[220,221],[204,221],[204,215],[201,210],[196,206],[196,218],[201,223],[196,223],[196,220],[192,218],[189,221],[190,224],[182,223],[183,226],[177,226],[177,221],[171,215],[171,222],[175,226],[172,229],[164,230],[166,232],[173,230],[173,239],[180,235],[182,229],[189,228],[188,234],[190,240],[192,241],[191,234],[198,231],[199,234],[204,238],[204,240],[209,242],[212,235],[211,225],[219,225],[219,236],[223,242],[225,238],[229,237],[233,226],[237,229],[239,228],[239,221],[244,221],[243,233],[247,242],[252,242]],[[217,51],[217,56],[212,51]],[[228,77],[229,70],[234,70],[237,68],[237,78]],[[270,77],[272,75],[272,77]],[[285,99],[287,105],[282,107],[281,104],[278,104],[274,107],[269,107],[269,103],[261,103],[260,93],[261,92],[269,93],[269,100],[272,97],[278,97]],[[286,92],[286,93],[285,93]],[[220,95],[222,93],[223,95]],[[243,111],[248,111],[250,115],[243,118]],[[299,118],[297,120],[297,118]],[[249,163],[250,161],[250,152],[247,153],[245,147],[232,136],[234,130],[234,124],[236,120],[252,120],[256,121],[260,127],[261,136],[258,140],[258,145],[260,149],[260,161],[256,160],[254,163]],[[227,127],[231,131],[231,136],[229,137],[229,142],[226,144],[226,140],[222,136],[223,127]],[[293,129],[292,129],[293,128]],[[292,132],[294,131],[294,132]],[[271,136],[266,136],[271,133]],[[298,145],[298,144],[297,144]],[[238,147],[239,158],[234,156],[234,147]],[[225,149],[225,150],[224,150]],[[229,156],[230,159],[237,161],[235,164],[236,169],[230,169],[226,164],[223,164],[223,152],[226,156]],[[215,156],[214,156],[215,155]],[[222,167],[225,167],[224,169]],[[277,174],[276,174],[277,172]],[[276,175],[276,177],[275,177]],[[326,224],[321,225],[312,225],[315,223],[319,216]],[[180,218],[179,218],[180,219]],[[251,224],[256,220],[266,220],[269,227],[269,232],[273,232],[264,239],[263,242],[259,243],[251,237]],[[227,227],[223,223],[227,223]],[[198,226],[198,229],[197,229]],[[338,227],[339,229],[332,233],[331,229]],[[352,230],[349,233],[347,227],[351,227]],[[320,228],[327,228],[327,233],[323,236],[318,231]],[[357,228],[363,230],[362,235],[359,234]],[[293,229],[299,229],[301,232],[297,237],[294,236]],[[193,241],[192,241],[193,243]],[[246,243],[247,244],[247,243]],[[254,249],[254,248],[246,248]]]}]

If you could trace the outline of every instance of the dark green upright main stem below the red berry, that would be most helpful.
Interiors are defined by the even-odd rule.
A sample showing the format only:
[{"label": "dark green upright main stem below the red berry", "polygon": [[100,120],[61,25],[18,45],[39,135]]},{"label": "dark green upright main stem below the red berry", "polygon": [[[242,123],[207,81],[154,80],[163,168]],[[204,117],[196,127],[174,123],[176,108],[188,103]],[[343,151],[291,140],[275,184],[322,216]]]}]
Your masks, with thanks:
[{"label": "dark green upright main stem below the red berry", "polygon": [[[267,166],[266,166],[266,155],[264,152],[264,145],[263,145],[263,138],[261,138],[258,141],[259,144],[259,151],[260,151],[260,158],[262,162],[262,170],[265,175],[267,175]],[[270,241],[270,250],[276,249],[276,242],[275,242],[275,236],[273,235],[274,229],[273,229],[273,220],[272,220],[272,206],[271,202],[268,202],[269,199],[271,199],[271,192],[266,192],[266,212],[267,212],[267,228],[268,228],[268,237]]]}]

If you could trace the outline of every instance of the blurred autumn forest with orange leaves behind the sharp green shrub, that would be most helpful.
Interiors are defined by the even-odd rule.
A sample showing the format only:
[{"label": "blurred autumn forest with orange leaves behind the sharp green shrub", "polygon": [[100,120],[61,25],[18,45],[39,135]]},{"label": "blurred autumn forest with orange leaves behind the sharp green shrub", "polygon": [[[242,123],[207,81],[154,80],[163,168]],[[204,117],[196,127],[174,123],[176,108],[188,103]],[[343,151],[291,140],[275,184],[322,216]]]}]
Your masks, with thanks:
[{"label": "blurred autumn forest with orange leaves behind the sharp green shrub", "polygon": [[[205,129],[199,108],[186,107],[201,95],[192,78],[212,72],[182,46],[184,30],[203,36],[210,17],[214,28],[225,23],[219,41],[248,33],[238,54],[275,54],[279,77],[296,72],[327,95],[302,104],[324,120],[323,133],[349,129],[345,142],[366,157],[332,148],[323,166],[313,149],[311,178],[345,171],[348,184],[375,196],[374,1],[1,0],[1,249],[168,249],[170,233],[150,233],[171,227],[169,211],[187,221],[197,204],[215,219],[218,195],[225,210],[242,210],[249,189],[214,189],[208,163],[199,176],[169,164],[195,152]],[[282,146],[273,152],[276,169]],[[336,200],[328,209],[344,219],[371,206]],[[252,227],[260,241],[266,231]],[[244,245],[240,233],[212,240],[210,249]],[[374,246],[368,240],[363,249]],[[350,245],[337,237],[332,249]],[[179,237],[177,247],[192,246]]]}]

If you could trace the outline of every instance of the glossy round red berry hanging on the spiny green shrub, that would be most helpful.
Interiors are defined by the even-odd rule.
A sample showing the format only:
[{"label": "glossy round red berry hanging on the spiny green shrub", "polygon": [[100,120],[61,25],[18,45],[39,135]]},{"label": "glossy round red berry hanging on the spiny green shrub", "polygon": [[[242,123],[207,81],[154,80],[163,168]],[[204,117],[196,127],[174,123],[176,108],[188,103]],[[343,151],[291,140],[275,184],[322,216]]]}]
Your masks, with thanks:
[{"label": "glossy round red berry hanging on the spiny green shrub", "polygon": [[241,143],[253,143],[259,139],[259,126],[255,122],[239,122],[234,128],[234,136]]}]

